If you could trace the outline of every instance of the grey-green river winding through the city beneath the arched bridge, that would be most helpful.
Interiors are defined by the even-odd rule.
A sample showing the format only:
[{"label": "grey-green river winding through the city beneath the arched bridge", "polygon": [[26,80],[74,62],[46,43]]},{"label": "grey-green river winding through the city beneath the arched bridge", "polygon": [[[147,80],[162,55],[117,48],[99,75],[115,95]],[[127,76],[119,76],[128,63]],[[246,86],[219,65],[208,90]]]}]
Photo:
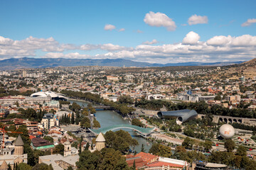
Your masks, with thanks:
[{"label": "grey-green river winding through the city beneath the arched bridge", "polygon": [[[80,106],[87,106],[87,102],[85,101],[73,101],[69,100],[70,103],[78,103]],[[121,125],[121,124],[129,124],[128,120],[124,120],[121,115],[119,115],[116,111],[96,111],[96,118],[100,122],[101,128],[110,126],[110,125]],[[142,144],[144,145],[145,152],[149,152],[149,149],[152,145],[151,141],[146,140],[144,137],[137,135],[136,132],[129,130],[129,129],[123,129],[127,132],[129,132],[130,135],[134,139],[136,139],[139,142],[139,145],[135,147],[136,152],[141,152]]]}]

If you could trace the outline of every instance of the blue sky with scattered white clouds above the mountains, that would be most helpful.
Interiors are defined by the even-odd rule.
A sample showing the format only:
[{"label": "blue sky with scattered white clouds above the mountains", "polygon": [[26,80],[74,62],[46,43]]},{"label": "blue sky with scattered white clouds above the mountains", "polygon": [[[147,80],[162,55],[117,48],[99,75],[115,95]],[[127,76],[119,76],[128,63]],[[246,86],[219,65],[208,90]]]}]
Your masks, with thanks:
[{"label": "blue sky with scattered white clouds above the mountains", "polygon": [[0,60],[252,60],[255,8],[255,0],[1,0]]}]

